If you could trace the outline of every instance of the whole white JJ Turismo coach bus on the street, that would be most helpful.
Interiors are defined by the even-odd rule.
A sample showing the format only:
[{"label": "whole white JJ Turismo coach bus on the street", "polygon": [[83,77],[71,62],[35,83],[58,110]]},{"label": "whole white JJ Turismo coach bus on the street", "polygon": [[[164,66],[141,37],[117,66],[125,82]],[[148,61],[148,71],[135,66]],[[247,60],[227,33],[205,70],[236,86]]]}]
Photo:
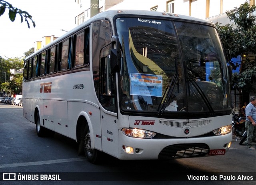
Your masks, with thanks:
[{"label": "whole white JJ Turismo coach bus on the street", "polygon": [[224,155],[228,67],[214,24],[177,14],[100,13],[24,60],[24,117],[77,141],[91,163]]}]

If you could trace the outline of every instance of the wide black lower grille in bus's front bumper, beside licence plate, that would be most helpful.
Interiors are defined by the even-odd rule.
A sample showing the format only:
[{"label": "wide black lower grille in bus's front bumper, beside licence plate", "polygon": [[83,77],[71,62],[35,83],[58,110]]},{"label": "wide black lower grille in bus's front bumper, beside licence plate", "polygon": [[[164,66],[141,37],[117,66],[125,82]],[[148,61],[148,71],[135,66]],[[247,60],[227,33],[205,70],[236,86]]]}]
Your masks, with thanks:
[{"label": "wide black lower grille in bus's front bumper, beside licence plate", "polygon": [[188,157],[204,157],[209,151],[208,145],[204,143],[189,143],[169,145],[162,149],[158,159],[178,159]]}]

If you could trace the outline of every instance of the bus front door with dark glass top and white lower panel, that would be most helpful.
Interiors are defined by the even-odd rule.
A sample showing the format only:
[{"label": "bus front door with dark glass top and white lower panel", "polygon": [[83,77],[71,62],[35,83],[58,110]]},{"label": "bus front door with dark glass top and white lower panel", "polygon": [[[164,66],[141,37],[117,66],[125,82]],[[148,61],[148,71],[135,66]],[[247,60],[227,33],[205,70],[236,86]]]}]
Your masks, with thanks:
[{"label": "bus front door with dark glass top and white lower panel", "polygon": [[118,156],[116,76],[110,70],[109,55],[100,60],[100,117],[102,151]]}]

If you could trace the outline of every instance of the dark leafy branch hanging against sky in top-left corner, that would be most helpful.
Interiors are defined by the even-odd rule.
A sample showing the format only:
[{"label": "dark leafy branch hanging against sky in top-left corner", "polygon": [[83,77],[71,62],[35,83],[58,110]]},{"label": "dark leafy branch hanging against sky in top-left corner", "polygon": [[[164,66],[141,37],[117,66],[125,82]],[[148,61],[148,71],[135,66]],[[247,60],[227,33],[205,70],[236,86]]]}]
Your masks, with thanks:
[{"label": "dark leafy branch hanging against sky in top-left corner", "polygon": [[32,16],[26,12],[26,11],[22,11],[18,8],[15,8],[12,6],[12,4],[4,1],[4,0],[0,0],[0,16],[2,16],[7,9],[9,9],[9,18],[12,22],[14,22],[16,15],[19,14],[20,15],[20,19],[21,19],[21,23],[23,22],[23,20],[25,19],[25,22],[27,22],[28,24],[28,28],[30,28],[30,24],[28,22],[28,20],[30,20],[33,24],[34,27],[36,27],[36,24],[34,22],[34,20],[32,20]]}]

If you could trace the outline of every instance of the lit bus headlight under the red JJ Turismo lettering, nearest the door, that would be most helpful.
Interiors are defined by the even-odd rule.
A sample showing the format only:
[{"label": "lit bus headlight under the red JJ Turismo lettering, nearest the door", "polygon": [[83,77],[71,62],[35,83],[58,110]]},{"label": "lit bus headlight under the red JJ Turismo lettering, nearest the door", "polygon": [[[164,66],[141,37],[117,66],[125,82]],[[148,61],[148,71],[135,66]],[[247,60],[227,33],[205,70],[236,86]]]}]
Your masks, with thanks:
[{"label": "lit bus headlight under the red JJ Turismo lettering, nearest the door", "polygon": [[122,128],[122,132],[130,137],[139,137],[139,138],[152,138],[156,135],[155,132],[143,130],[143,129],[131,129],[131,128]]}]

